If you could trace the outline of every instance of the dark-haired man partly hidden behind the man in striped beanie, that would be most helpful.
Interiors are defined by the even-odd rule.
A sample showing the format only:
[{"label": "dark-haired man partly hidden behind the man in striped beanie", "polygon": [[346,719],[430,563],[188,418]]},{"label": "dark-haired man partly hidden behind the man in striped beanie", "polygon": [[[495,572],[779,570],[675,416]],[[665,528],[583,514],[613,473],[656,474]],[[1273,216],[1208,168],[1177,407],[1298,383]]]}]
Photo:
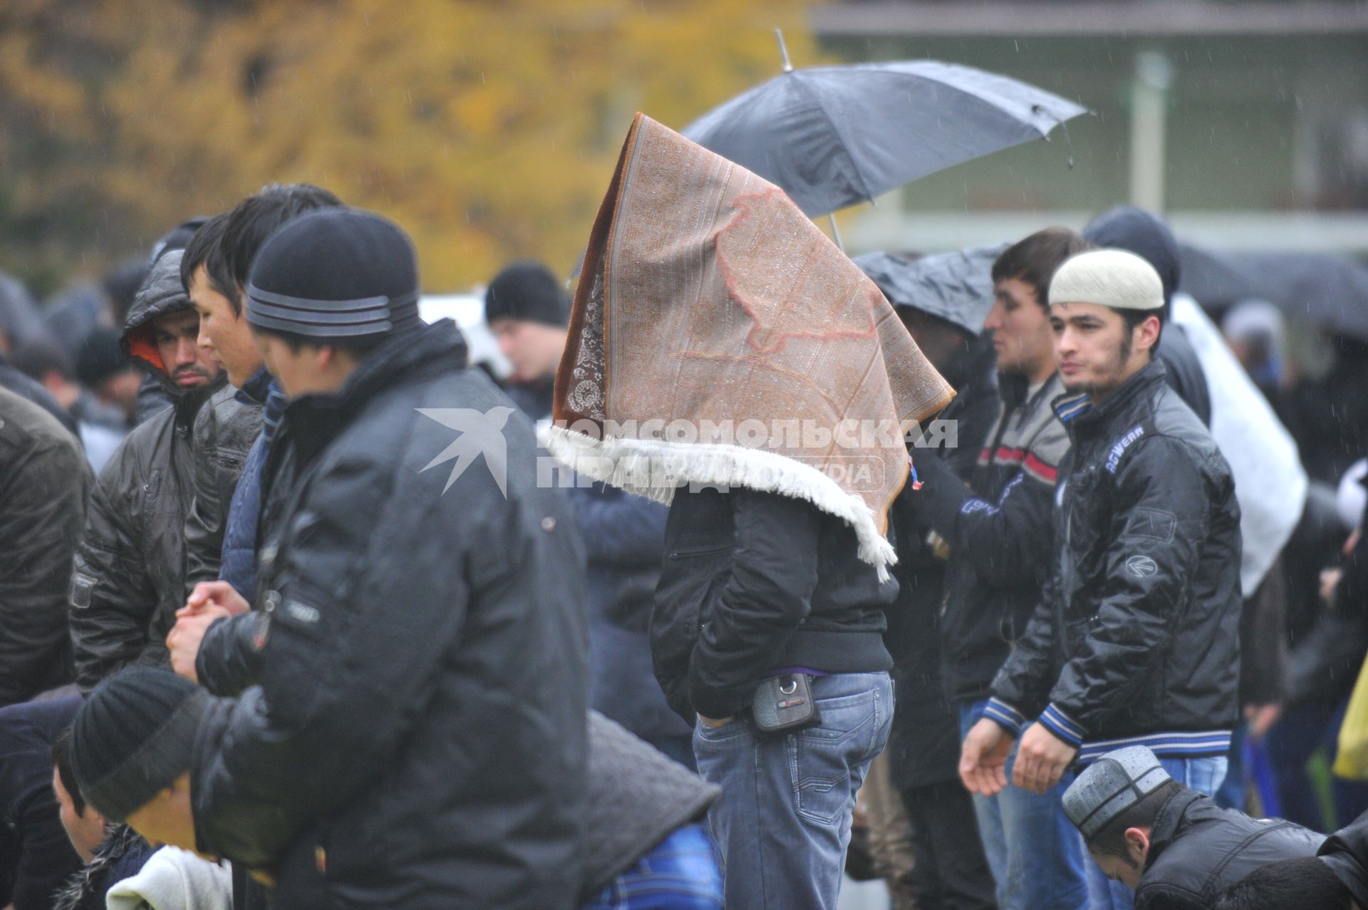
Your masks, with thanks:
[{"label": "dark-haired man partly hidden behind the man in striped beanie", "polygon": [[[274,419],[283,402],[276,397],[268,404],[271,374],[244,317],[248,274],[261,245],[283,224],[341,204],[332,193],[309,183],[272,183],[227,215],[211,219],[186,246],[181,281],[200,312],[200,343],[219,356],[230,386],[209,401],[194,426],[194,501],[185,523],[186,593],[198,582],[218,579],[227,560],[230,583],[252,595],[256,499],[268,445],[261,428],[265,412],[271,411]],[[242,475],[248,476],[246,489],[234,519]],[[230,521],[239,525],[235,536],[242,541],[226,550]]]}]

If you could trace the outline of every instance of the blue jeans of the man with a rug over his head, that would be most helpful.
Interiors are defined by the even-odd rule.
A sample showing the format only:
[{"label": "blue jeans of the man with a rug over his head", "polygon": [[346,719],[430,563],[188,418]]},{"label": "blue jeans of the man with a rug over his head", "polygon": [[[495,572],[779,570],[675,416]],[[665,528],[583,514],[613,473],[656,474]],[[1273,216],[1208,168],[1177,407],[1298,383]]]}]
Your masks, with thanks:
[{"label": "blue jeans of the man with a rug over his head", "polygon": [[695,724],[698,770],[722,788],[707,821],[728,907],[836,907],[855,794],[888,742],[893,684],[888,673],[818,676],[813,698],[822,723],[796,733],[761,733],[750,718]]}]

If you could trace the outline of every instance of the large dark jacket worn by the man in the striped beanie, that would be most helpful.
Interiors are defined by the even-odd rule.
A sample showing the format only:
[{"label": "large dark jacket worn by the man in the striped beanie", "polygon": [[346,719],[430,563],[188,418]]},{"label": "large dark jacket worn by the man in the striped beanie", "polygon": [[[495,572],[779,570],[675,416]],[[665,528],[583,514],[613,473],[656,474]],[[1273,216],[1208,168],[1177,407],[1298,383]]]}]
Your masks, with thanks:
[{"label": "large dark jacket worn by the man in the striped beanie", "polygon": [[274,906],[576,903],[584,553],[531,421],[460,352],[450,322],[390,338],[278,428],[259,673],[192,766],[200,847],[272,869]]}]

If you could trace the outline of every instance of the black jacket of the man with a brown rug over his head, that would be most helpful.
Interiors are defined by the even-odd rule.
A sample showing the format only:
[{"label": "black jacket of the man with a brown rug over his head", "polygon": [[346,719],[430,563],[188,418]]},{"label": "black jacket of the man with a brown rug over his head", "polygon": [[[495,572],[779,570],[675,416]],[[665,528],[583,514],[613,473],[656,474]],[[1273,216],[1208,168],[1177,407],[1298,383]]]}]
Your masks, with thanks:
[{"label": "black jacket of the man with a brown rug over his head", "polygon": [[748,707],[770,671],[886,671],[897,582],[860,562],[841,519],[776,493],[680,489],[665,521],[651,660],[665,699],[695,714]]}]

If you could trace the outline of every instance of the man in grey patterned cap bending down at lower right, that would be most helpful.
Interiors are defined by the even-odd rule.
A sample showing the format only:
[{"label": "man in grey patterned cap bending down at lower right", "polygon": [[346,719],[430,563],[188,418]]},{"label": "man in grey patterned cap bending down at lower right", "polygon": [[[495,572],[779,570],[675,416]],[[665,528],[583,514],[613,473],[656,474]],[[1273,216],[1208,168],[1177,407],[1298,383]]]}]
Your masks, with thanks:
[{"label": "man in grey patterned cap bending down at lower right", "polygon": [[1290,821],[1220,809],[1183,787],[1155,753],[1108,753],[1064,794],[1064,811],[1108,879],[1135,892],[1137,910],[1209,910],[1250,872],[1312,857],[1324,837]]}]

